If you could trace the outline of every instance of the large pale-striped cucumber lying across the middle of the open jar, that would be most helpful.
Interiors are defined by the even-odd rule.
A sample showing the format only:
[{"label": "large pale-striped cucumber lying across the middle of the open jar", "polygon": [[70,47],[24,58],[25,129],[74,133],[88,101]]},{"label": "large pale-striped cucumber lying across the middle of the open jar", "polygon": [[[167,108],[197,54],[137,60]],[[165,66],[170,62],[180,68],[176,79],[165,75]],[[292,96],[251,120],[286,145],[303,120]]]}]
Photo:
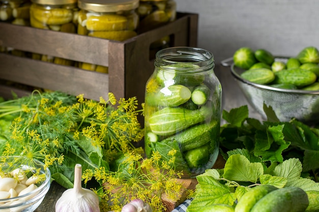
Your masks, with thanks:
[{"label": "large pale-striped cucumber lying across the middle of the open jar", "polygon": [[148,124],[156,135],[173,135],[192,125],[209,119],[212,115],[209,107],[202,106],[198,110],[182,107],[166,107],[150,115]]}]

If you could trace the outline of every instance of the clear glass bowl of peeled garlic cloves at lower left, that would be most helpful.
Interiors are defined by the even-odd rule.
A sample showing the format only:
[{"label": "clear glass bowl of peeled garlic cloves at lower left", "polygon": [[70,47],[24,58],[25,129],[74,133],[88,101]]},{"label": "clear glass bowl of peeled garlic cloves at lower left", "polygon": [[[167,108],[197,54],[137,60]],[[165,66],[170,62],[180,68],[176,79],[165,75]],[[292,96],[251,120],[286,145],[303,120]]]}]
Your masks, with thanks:
[{"label": "clear glass bowl of peeled garlic cloves at lower left", "polygon": [[38,160],[0,157],[0,211],[32,212],[50,188],[51,174]]}]

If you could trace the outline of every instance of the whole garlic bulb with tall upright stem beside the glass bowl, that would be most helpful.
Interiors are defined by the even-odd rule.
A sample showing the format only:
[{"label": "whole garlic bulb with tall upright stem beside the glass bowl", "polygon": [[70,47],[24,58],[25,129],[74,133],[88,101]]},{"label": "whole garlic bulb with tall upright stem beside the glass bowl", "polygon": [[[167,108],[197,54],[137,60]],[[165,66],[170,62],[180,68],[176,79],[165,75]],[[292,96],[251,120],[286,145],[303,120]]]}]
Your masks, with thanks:
[{"label": "whole garlic bulb with tall upright stem beside the glass bowl", "polygon": [[74,187],[63,192],[56,203],[56,212],[99,212],[98,196],[91,190],[82,188],[82,165],[74,169]]}]

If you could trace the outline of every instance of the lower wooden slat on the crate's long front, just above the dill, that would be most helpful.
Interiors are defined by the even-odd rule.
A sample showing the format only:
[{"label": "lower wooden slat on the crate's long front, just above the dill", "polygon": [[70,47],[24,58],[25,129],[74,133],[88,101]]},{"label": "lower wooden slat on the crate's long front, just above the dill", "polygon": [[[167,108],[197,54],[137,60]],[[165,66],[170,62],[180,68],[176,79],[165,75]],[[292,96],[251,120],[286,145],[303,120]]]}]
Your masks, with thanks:
[{"label": "lower wooden slat on the crate's long front, just above the dill", "polygon": [[[0,78],[99,100],[108,97],[109,75],[0,53]],[[10,67],[10,69],[8,69]],[[35,68],[36,67],[36,68]]]}]

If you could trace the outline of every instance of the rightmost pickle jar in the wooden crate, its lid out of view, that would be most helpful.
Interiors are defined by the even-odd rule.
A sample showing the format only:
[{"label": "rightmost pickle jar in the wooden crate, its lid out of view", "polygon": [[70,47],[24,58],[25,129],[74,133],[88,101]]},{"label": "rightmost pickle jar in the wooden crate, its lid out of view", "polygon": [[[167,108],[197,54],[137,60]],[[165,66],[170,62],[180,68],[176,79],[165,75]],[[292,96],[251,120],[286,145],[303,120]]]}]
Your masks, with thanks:
[{"label": "rightmost pickle jar in the wooden crate, its lid out of view", "polygon": [[138,32],[144,33],[176,20],[176,3],[174,0],[140,0],[138,13]]}]

